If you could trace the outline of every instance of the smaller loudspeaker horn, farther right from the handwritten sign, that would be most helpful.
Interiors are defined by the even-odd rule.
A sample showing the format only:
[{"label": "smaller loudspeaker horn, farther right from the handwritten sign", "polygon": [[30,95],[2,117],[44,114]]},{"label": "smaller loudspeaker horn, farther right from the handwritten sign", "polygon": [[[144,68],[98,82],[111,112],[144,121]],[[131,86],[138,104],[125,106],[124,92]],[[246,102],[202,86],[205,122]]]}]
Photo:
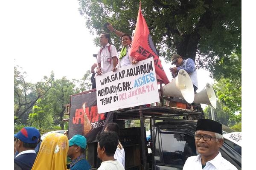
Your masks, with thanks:
[{"label": "smaller loudspeaker horn, farther right from the handwritten sign", "polygon": [[194,103],[202,103],[202,104],[210,105],[213,108],[216,108],[217,98],[212,88],[212,85],[207,83],[202,91],[200,91],[198,94],[195,94]]}]

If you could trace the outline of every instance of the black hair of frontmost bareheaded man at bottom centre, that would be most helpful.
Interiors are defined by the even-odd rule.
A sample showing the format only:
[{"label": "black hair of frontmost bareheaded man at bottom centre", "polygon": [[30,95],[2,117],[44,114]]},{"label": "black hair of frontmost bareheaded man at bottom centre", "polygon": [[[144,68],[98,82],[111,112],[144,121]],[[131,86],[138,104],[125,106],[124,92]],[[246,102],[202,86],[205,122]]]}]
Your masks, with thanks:
[{"label": "black hair of frontmost bareheaded man at bottom centre", "polygon": [[105,147],[107,156],[113,156],[116,152],[118,144],[118,135],[116,132],[102,132],[98,133],[96,139],[99,141],[99,147]]}]

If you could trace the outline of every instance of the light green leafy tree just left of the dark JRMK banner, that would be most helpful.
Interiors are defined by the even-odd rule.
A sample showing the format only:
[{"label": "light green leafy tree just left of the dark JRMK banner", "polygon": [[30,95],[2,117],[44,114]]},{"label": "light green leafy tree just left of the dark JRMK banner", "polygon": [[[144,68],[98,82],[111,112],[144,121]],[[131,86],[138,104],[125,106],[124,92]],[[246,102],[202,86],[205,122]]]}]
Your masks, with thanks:
[{"label": "light green leafy tree just left of the dark JRMK banner", "polygon": [[[54,78],[54,75],[52,77]],[[70,95],[74,94],[75,85],[66,77],[55,80],[53,85],[47,95],[47,102],[52,109],[54,123],[60,124],[61,130],[64,130],[64,112],[66,105],[70,102]]]}]

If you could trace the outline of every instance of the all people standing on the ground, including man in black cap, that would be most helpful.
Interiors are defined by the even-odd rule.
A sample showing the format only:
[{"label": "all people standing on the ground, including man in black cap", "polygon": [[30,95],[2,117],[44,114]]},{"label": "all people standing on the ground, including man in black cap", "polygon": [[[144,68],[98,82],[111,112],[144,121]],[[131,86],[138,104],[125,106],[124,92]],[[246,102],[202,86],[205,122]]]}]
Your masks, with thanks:
[{"label": "all people standing on the ground, including man in black cap", "polygon": [[[109,123],[96,136],[97,154],[102,163],[98,170],[124,170],[125,150],[119,141],[119,125]],[[41,142],[34,127],[23,127],[14,135],[15,170],[90,170],[85,150],[87,140],[79,134],[70,140],[61,133],[50,133]],[[35,148],[40,144],[36,153]],[[224,159],[219,148],[224,142],[222,125],[210,119],[199,119],[195,131],[198,156],[190,156],[183,170],[237,170]],[[90,154],[90,153],[89,153]],[[67,162],[71,159],[70,163]]]}]

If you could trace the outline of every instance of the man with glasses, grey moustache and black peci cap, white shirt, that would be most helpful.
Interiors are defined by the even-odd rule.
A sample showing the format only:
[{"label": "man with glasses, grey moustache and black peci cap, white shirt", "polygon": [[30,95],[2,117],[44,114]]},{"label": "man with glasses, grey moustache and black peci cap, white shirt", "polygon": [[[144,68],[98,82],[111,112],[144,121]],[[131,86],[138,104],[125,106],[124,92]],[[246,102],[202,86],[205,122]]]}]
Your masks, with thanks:
[{"label": "man with glasses, grey moustache and black peci cap, white shirt", "polygon": [[195,147],[200,155],[190,156],[183,170],[237,170],[219,152],[224,140],[222,125],[210,119],[199,119],[195,132]]}]

